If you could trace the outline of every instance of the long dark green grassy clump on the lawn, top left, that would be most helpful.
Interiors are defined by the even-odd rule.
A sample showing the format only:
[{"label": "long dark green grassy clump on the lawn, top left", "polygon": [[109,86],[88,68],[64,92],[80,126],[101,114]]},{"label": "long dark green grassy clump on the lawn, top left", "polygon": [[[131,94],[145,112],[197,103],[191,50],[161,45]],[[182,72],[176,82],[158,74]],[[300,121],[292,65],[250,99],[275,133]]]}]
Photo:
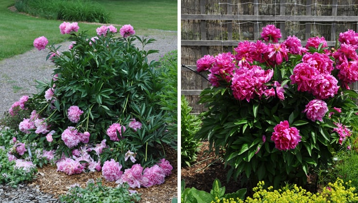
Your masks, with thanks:
[{"label": "long dark green grassy clump on the lawn, top left", "polygon": [[19,12],[46,19],[99,23],[109,19],[101,4],[87,0],[17,0],[15,7]]}]

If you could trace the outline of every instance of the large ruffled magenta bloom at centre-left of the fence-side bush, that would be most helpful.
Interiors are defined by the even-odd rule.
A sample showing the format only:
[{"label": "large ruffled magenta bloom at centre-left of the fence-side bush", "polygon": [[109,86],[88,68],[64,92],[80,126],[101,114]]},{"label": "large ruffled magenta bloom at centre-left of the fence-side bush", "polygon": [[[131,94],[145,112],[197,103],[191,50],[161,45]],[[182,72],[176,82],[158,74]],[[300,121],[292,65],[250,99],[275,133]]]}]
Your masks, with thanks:
[{"label": "large ruffled magenta bloom at centre-left of the fence-side bush", "polygon": [[250,68],[241,67],[233,73],[231,89],[233,96],[237,100],[250,102],[256,95],[261,98],[273,76],[273,70],[264,70],[258,66]]}]

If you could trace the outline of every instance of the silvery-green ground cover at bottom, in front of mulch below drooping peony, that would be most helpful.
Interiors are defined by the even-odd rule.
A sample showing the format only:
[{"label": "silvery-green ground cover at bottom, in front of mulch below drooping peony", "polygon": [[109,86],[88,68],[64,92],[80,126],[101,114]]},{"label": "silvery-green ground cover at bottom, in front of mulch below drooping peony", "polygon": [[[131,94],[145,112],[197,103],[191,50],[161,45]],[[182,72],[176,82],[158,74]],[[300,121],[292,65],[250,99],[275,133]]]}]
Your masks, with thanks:
[{"label": "silvery-green ground cover at bottom, in front of mulch below drooping peony", "polygon": [[140,194],[128,189],[128,184],[118,187],[102,186],[101,179],[87,181],[86,188],[73,185],[67,194],[61,195],[61,202],[67,203],[135,203],[141,200]]}]

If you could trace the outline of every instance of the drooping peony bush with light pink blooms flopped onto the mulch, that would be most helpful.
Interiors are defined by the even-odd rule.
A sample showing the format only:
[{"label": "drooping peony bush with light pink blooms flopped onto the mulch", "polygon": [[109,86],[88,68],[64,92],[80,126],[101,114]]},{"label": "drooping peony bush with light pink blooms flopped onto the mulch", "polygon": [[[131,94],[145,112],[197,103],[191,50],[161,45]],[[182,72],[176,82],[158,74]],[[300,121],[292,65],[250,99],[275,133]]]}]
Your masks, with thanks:
[{"label": "drooping peony bush with light pink blooms flopped onto the mulch", "polygon": [[[120,37],[113,25],[97,28],[97,36],[79,29],[77,22],[60,24],[59,33],[72,41],[67,51],[49,46],[45,36],[34,40],[36,49],[49,50],[47,60],[55,69],[49,82],[38,81],[37,94],[21,97],[9,109],[9,118],[20,118],[13,139],[28,143],[13,141],[16,158],[31,160],[28,145],[36,143],[69,175],[102,171],[108,181],[123,175],[119,184],[132,187],[162,184],[173,169],[163,144],[173,146],[176,132],[163,117],[169,114],[161,105],[161,64],[147,59],[157,51],[143,49],[154,39],[134,35],[131,25],[120,29]],[[130,178],[133,166],[143,170],[135,176],[138,184]]]}]

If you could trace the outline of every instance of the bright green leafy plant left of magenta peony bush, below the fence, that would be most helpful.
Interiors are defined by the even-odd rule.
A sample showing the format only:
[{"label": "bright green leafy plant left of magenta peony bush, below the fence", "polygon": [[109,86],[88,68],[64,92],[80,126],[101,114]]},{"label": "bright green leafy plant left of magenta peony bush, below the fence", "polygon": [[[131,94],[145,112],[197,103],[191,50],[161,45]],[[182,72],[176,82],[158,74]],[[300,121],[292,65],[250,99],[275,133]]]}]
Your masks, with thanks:
[{"label": "bright green leafy plant left of magenta peony bush, below the fence", "polygon": [[201,143],[194,139],[194,135],[200,129],[201,120],[191,114],[192,107],[185,96],[181,96],[181,165],[190,166],[197,160],[197,152],[200,151]]}]

